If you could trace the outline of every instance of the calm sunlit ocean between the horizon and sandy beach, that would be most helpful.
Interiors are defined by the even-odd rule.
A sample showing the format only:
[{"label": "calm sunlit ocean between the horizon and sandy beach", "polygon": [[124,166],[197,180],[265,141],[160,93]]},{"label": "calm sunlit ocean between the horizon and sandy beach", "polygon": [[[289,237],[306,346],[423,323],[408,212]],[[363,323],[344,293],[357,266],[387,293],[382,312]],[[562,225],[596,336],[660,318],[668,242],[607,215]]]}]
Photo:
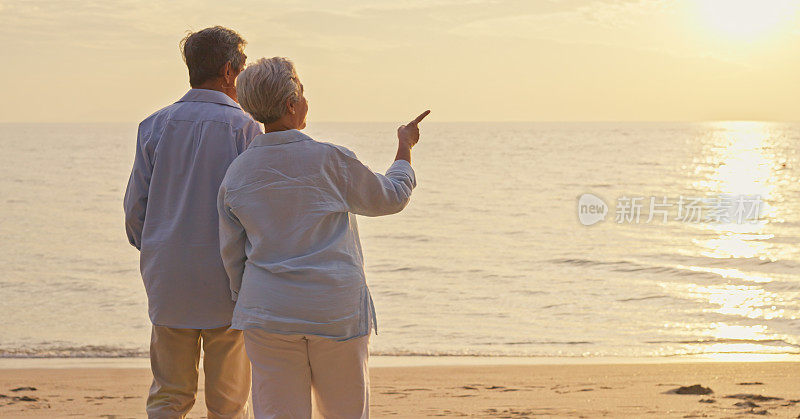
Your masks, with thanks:
[{"label": "calm sunlit ocean between the horizon and sandy beach", "polygon": [[[396,125],[305,131],[382,172]],[[135,140],[134,123],[0,124],[0,357],[147,356],[122,213]],[[359,217],[371,352],[800,354],[798,144],[789,123],[425,121],[410,205]],[[758,211],[725,219],[723,198]],[[581,199],[605,217],[584,225]]]}]

